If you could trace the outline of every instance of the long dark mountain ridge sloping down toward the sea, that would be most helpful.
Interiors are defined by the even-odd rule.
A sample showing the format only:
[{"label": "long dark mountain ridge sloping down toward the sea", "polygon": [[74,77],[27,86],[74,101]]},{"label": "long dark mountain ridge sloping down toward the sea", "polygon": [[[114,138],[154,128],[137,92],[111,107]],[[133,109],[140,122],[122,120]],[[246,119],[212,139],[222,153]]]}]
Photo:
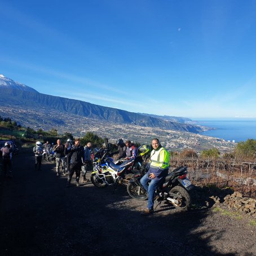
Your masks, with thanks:
[{"label": "long dark mountain ridge sloping down toward the sea", "polygon": [[[1,79],[2,77],[0,77],[0,81]],[[10,78],[6,79],[10,80]],[[0,82],[0,86],[1,85]],[[32,109],[37,109],[43,106],[48,109],[56,109],[60,112],[77,114],[78,116],[111,121],[119,124],[127,123],[147,127],[161,127],[164,129],[187,131],[191,133],[198,133],[202,130],[199,126],[187,123],[172,122],[165,120],[164,118],[152,117],[150,115],[147,116],[117,108],[103,107],[86,101],[41,94],[34,89],[20,90],[19,88],[23,87],[5,87],[5,85],[2,85],[1,87],[2,97],[0,97],[0,104],[5,105],[6,102],[10,102],[14,108],[15,105]]]}]

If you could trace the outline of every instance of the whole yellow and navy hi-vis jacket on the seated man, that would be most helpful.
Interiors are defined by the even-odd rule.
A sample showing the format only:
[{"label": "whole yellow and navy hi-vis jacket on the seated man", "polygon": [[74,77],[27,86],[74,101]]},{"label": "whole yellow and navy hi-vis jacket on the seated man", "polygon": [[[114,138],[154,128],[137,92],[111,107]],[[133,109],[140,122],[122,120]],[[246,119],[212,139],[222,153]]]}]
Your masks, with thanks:
[{"label": "whole yellow and navy hi-vis jacket on the seated man", "polygon": [[151,151],[150,168],[148,173],[153,173],[156,180],[166,176],[169,169],[169,153],[162,146]]}]

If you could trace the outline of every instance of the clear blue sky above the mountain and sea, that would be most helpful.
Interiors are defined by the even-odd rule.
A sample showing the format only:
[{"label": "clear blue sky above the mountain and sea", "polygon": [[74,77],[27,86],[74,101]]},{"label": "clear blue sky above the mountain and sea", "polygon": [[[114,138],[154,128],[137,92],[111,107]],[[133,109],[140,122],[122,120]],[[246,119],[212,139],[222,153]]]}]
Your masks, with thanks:
[{"label": "clear blue sky above the mountain and sea", "polygon": [[256,117],[256,1],[2,1],[0,73],[130,112]]}]

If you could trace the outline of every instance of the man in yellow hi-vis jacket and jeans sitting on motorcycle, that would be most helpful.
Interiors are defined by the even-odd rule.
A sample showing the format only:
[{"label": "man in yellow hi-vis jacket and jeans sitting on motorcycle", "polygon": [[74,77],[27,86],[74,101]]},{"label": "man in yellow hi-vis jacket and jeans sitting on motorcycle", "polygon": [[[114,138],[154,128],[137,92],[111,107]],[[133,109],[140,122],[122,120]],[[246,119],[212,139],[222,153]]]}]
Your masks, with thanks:
[{"label": "man in yellow hi-vis jacket and jeans sitting on motorcycle", "polygon": [[[148,192],[148,206],[142,212],[142,215],[154,213],[155,191],[164,181],[169,170],[169,153],[162,147],[158,139],[152,140],[152,147],[149,170],[140,180],[140,183]],[[149,185],[148,182],[150,182]]]}]

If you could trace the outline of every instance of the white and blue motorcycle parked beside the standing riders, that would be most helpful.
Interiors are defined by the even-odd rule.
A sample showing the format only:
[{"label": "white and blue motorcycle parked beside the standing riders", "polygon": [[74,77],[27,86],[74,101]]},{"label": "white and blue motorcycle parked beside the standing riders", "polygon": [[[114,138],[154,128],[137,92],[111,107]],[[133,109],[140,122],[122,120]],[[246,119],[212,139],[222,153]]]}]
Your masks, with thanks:
[{"label": "white and blue motorcycle parked beside the standing riders", "polygon": [[[116,164],[113,158],[107,156],[105,151],[101,158],[94,158],[91,182],[94,186],[104,188],[113,184],[127,185],[133,177],[131,173],[134,160],[118,161]],[[119,164],[119,165],[118,165]]]}]

